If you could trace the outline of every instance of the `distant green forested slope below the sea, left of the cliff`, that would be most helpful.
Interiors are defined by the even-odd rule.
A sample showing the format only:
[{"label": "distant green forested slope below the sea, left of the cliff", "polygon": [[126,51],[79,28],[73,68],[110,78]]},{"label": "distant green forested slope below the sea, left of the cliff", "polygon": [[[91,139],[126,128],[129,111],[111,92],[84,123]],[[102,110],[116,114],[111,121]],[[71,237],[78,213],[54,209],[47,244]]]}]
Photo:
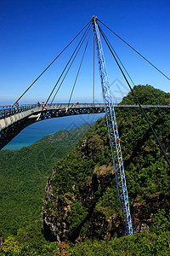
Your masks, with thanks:
[{"label": "distant green forested slope below the sea, left of the cliff", "polygon": [[47,177],[57,160],[68,154],[91,124],[59,131],[20,150],[0,151],[0,227],[3,236],[40,218]]}]

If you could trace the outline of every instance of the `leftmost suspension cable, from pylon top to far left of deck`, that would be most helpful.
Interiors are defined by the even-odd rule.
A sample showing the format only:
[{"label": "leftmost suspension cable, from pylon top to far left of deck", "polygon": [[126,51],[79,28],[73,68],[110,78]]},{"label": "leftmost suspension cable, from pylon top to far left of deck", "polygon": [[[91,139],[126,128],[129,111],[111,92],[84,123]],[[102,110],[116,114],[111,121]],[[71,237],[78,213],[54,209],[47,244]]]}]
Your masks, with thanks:
[{"label": "leftmost suspension cable, from pylon top to far left of deck", "polygon": [[[65,46],[65,49],[67,49],[67,48],[71,45],[71,43],[80,35],[80,33],[89,25],[90,22],[91,22],[91,21],[89,21],[89,22],[87,23],[87,25],[84,26],[84,27],[82,28],[82,30],[81,30],[79,33],[77,33],[77,36],[76,36],[75,38],[73,38],[73,39],[71,40],[71,42]],[[59,58],[59,56],[65,51],[65,49],[63,49],[63,50],[59,53],[59,55],[57,55],[57,56],[54,58],[54,61],[56,61],[56,60]],[[31,86],[32,86],[33,84],[35,84],[38,79],[40,79],[40,77],[42,76],[42,74],[45,73],[45,72],[48,70],[48,68],[54,63],[54,61],[52,61],[52,62],[48,65],[48,67],[46,67],[46,68],[42,71],[42,73],[37,77],[37,79],[35,79],[35,80],[33,81],[33,83],[32,83],[32,84],[25,90],[25,92],[14,102],[14,104],[16,104],[16,102],[19,102],[19,101],[20,101],[20,99],[26,94],[26,92],[31,89]]]}]

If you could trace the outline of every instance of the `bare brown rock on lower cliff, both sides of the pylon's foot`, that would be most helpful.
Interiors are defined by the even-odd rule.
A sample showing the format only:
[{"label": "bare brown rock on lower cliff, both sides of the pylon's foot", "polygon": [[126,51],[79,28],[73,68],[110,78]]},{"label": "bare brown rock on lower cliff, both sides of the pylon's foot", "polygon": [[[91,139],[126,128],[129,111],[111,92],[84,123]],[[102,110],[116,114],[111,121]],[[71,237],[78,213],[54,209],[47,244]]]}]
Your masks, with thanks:
[{"label": "bare brown rock on lower cliff, both sides of the pylon's foot", "polygon": [[[59,195],[54,195],[54,188],[48,180],[46,200],[44,201],[42,214],[42,230],[44,236],[49,241],[82,241],[85,237],[97,237],[103,240],[110,240],[111,236],[116,237],[124,235],[120,215],[112,215],[107,218],[103,212],[99,212],[95,209],[99,197],[104,193],[106,187],[111,183],[111,179],[114,177],[113,173],[108,171],[110,167],[111,166],[101,166],[97,172],[94,172],[92,182],[87,183],[82,189],[81,199],[79,198],[79,200],[81,200],[83,207],[88,209],[88,212],[85,218],[82,219],[82,222],[77,225],[77,228],[73,231],[70,230],[69,216],[71,204],[77,201],[77,198],[68,193],[63,195],[62,200],[59,199]],[[98,191],[98,193],[96,193],[96,191]],[[49,202],[53,205],[53,210],[48,210]],[[147,198],[145,201],[134,200],[131,204],[133,233],[141,233],[144,230],[150,232],[153,216],[161,207],[164,207],[168,212],[170,208],[169,195],[155,195]],[[88,224],[88,227],[82,234],[84,224]]]}]

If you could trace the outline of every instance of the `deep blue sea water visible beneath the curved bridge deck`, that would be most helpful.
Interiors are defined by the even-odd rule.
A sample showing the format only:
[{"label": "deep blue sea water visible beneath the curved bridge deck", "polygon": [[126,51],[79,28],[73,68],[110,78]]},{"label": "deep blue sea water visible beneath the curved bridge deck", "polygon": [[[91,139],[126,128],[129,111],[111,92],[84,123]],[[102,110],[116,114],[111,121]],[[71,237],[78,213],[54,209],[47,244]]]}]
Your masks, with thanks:
[{"label": "deep blue sea water visible beneath the curved bridge deck", "polygon": [[62,118],[48,119],[26,127],[3,149],[17,150],[36,143],[39,139],[59,130],[69,131],[84,123],[93,123],[104,113],[92,113]]}]

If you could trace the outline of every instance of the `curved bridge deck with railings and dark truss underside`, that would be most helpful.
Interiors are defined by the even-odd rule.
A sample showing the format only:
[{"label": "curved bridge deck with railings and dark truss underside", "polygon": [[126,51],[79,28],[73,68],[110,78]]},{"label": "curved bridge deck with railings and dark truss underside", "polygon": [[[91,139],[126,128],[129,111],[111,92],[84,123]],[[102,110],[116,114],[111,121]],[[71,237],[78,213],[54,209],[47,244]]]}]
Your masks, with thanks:
[{"label": "curved bridge deck with railings and dark truss underside", "polygon": [[[114,108],[138,108],[138,105],[115,104]],[[142,105],[143,108],[170,108],[170,105]],[[35,104],[23,105],[21,107],[0,107],[0,149],[8,144],[26,126],[56,117],[105,113],[104,104],[48,104],[45,108]]]}]

